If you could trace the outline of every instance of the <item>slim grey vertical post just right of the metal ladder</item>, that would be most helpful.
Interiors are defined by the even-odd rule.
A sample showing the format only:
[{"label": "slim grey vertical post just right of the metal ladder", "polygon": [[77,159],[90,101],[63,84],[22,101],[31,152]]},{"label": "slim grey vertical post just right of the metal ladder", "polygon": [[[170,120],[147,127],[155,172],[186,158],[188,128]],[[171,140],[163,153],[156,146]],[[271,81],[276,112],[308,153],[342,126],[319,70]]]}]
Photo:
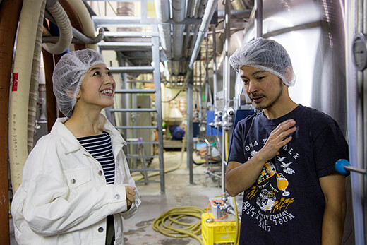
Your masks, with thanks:
[{"label": "slim grey vertical post just right of the metal ladder", "polygon": [[189,183],[193,184],[193,71],[190,72],[186,92],[186,154]]}]

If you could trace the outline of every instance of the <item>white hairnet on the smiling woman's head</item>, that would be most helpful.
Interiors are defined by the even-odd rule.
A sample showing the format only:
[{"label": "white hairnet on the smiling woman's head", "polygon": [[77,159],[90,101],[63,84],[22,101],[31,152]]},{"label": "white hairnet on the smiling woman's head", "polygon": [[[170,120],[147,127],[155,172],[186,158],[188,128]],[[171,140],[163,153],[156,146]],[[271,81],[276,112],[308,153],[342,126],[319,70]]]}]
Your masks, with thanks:
[{"label": "white hairnet on the smiling woman's head", "polygon": [[54,68],[52,83],[60,112],[71,117],[76,96],[87,71],[97,64],[104,64],[101,54],[83,49],[64,54]]}]

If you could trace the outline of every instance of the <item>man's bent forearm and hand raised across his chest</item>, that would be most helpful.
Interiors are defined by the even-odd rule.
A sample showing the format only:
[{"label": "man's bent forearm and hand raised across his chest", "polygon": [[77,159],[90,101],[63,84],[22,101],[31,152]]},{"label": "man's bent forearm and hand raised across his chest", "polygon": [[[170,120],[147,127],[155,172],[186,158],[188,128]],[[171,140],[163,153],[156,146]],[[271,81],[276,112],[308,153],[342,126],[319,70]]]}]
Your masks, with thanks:
[{"label": "man's bent forearm and hand raised across his chest", "polygon": [[[270,133],[263,148],[245,163],[229,162],[225,174],[226,191],[236,196],[250,188],[258,178],[265,163],[275,157],[280,148],[291,141],[291,133],[296,131],[293,119],[283,121]],[[289,136],[289,137],[287,137]]]}]

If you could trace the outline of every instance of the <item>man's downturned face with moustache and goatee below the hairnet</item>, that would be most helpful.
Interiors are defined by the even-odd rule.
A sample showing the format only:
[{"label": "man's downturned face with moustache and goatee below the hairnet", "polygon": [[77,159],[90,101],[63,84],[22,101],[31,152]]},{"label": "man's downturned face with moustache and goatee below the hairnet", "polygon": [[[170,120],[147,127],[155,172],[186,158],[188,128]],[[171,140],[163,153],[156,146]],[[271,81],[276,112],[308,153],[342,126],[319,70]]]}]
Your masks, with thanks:
[{"label": "man's downturned face with moustache and goatee below the hairnet", "polygon": [[239,74],[243,88],[256,109],[267,109],[279,102],[284,83],[278,76],[250,66],[242,66]]}]

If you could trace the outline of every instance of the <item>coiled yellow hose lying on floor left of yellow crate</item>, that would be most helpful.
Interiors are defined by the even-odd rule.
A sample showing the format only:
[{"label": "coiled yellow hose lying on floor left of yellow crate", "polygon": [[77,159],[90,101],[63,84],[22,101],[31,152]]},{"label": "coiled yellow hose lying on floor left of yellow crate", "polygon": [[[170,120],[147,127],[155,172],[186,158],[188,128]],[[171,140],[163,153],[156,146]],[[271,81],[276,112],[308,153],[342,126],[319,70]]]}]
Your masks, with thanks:
[{"label": "coiled yellow hose lying on floor left of yellow crate", "polygon": [[[176,238],[193,237],[198,240],[200,244],[204,245],[203,240],[200,239],[197,234],[201,233],[201,215],[205,212],[204,208],[191,206],[172,208],[157,217],[153,221],[152,227],[156,232],[160,232],[161,234],[164,234],[164,236]],[[181,218],[187,216],[196,217],[199,221],[195,223],[179,221]],[[179,229],[172,225],[185,226],[186,228]]]}]

